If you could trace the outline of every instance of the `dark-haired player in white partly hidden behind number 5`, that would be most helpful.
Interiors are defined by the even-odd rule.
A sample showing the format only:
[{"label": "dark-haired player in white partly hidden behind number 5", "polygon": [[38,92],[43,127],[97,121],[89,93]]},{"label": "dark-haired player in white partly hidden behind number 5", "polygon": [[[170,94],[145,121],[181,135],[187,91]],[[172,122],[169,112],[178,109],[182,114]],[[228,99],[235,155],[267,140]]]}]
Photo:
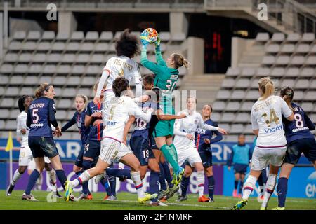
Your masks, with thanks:
[{"label": "dark-haired player in white partly hidden behind number 5", "polygon": [[[33,155],[32,151],[29,148],[29,130],[26,125],[26,120],[27,120],[27,110],[29,109],[29,105],[32,102],[32,97],[28,95],[23,95],[18,99],[18,107],[20,109],[20,114],[18,115],[17,120],[17,128],[16,128],[16,134],[18,137],[21,137],[22,142],[21,142],[21,147],[20,147],[20,155],[19,155],[19,168],[15,170],[13,174],[13,179],[8,186],[8,189],[6,190],[6,195],[10,196],[14,187],[15,183],[20,179],[20,176],[25,173],[26,169],[29,169],[31,172],[33,169],[35,169],[35,164],[33,160]],[[56,187],[56,176],[55,176],[55,171],[51,167],[51,161],[48,158],[44,158],[45,160],[45,168],[47,171],[47,175],[51,179],[51,184],[53,186],[53,191],[56,193],[58,197],[61,197],[58,192],[57,192],[57,187]],[[41,182],[41,181],[39,181]]]}]

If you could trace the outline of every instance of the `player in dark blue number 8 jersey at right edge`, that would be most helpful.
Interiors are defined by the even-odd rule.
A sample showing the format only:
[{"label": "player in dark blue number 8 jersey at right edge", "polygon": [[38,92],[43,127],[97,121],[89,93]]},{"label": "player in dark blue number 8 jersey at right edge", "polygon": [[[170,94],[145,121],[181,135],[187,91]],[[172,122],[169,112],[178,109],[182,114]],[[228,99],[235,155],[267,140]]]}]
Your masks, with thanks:
[{"label": "player in dark blue number 8 jersey at right edge", "polygon": [[287,181],[291,174],[291,170],[301,157],[301,153],[304,153],[305,157],[312,162],[316,169],[316,142],[314,135],[310,132],[311,130],[315,130],[315,125],[310,118],[308,118],[301,106],[292,102],[294,90],[291,89],[291,87],[282,88],[280,97],[282,97],[292,111],[294,111],[294,120],[290,122],[287,119],[282,119],[285,136],[287,137],[287,153],[279,174],[279,181],[277,184],[279,204],[275,210],[285,209]]}]

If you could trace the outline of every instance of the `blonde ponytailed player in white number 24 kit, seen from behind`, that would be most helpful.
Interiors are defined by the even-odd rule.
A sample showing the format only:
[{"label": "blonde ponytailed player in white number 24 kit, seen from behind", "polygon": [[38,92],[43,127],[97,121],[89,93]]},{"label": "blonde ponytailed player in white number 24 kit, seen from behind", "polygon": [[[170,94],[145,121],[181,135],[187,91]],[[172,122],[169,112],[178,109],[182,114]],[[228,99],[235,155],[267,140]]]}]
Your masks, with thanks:
[{"label": "blonde ponytailed player in white number 24 kit, seen from behind", "polygon": [[261,78],[258,85],[261,97],[251,109],[251,125],[258,138],[252,155],[250,174],[244,183],[242,200],[232,207],[233,210],[242,209],[247,204],[258,176],[265,167],[270,165],[270,174],[265,184],[263,203],[261,204],[261,209],[266,209],[268,200],[275,189],[279,167],[282,165],[287,150],[282,115],[287,120],[294,120],[294,113],[287,103],[281,97],[273,94],[275,88],[270,78]]}]

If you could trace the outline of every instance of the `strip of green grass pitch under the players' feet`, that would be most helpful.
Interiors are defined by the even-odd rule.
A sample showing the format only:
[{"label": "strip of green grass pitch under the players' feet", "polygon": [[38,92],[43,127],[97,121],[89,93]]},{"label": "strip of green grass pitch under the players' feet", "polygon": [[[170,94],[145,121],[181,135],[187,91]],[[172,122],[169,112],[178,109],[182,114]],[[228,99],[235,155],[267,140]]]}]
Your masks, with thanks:
[{"label": "strip of green grass pitch under the players' feet", "polygon": [[[28,202],[21,199],[21,190],[13,191],[12,195],[7,197],[4,190],[0,190],[0,209],[8,210],[230,210],[232,205],[239,199],[215,195],[215,202],[202,203],[197,202],[197,195],[188,195],[188,200],[176,202],[177,195],[169,199],[166,204],[168,207],[152,207],[148,204],[139,204],[136,202],[137,195],[131,193],[118,193],[117,201],[103,201],[105,193],[93,193],[93,200],[81,200],[79,202],[65,202],[63,199],[57,199],[57,202],[47,202],[46,191],[33,191],[34,197],[39,202]],[[75,193],[77,196],[78,193]],[[251,197],[243,210],[258,210],[260,203],[256,197]],[[277,207],[277,198],[272,197],[268,209]],[[287,210],[315,210],[315,199],[288,198],[286,204]]]}]

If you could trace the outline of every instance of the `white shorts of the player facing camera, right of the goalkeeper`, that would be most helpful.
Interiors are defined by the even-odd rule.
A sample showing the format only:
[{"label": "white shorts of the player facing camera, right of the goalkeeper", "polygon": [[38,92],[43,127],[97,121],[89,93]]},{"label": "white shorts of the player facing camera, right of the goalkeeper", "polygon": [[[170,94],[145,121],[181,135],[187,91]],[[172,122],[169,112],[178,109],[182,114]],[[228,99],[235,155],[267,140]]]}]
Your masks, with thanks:
[{"label": "white shorts of the player facing camera, right of the goalkeeper", "polygon": [[183,165],[183,162],[187,160],[187,162],[190,163],[191,167],[194,167],[195,162],[201,162],[201,157],[199,156],[199,152],[197,151],[197,148],[195,147],[179,147],[176,150],[178,153],[178,165],[181,166]]}]

